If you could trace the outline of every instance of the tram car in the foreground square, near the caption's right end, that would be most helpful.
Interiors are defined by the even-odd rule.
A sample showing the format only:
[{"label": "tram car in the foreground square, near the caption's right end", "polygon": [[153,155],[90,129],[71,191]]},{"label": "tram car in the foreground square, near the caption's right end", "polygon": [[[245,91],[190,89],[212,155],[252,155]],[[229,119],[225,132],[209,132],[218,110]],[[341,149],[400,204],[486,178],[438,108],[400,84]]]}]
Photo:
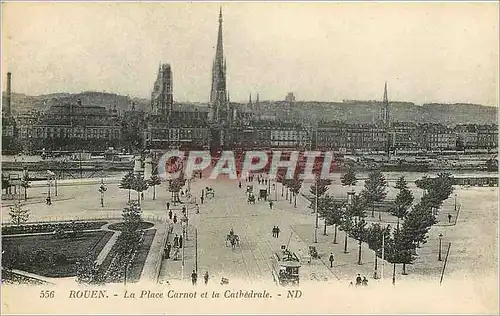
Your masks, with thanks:
[{"label": "tram car in the foreground square, near the caption's right end", "polygon": [[291,251],[274,253],[272,258],[272,273],[274,281],[281,285],[299,285],[300,260]]}]

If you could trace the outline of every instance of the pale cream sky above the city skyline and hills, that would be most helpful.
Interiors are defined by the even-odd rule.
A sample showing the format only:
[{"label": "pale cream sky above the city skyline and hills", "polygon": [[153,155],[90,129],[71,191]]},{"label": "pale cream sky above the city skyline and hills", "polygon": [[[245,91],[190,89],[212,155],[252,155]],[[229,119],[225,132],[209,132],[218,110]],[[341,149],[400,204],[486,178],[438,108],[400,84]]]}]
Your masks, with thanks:
[{"label": "pale cream sky above the city skyline and hills", "polygon": [[223,10],[231,101],[381,100],[498,106],[499,5],[490,3],[3,3],[2,88],[205,102]]}]

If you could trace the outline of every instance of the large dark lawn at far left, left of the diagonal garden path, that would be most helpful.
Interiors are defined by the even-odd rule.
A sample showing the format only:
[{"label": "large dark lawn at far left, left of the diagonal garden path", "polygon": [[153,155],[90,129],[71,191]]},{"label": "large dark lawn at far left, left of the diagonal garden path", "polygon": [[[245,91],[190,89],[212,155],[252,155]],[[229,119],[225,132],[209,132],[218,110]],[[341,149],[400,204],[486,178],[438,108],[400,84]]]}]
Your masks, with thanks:
[{"label": "large dark lawn at far left, left of the diagonal garden path", "polygon": [[[75,238],[55,239],[52,234],[38,236],[2,237],[4,256],[17,253],[17,260],[11,261],[14,269],[43,275],[46,277],[70,277],[76,275],[76,262],[79,258],[96,258],[109,241],[112,232],[83,232]],[[65,260],[50,262],[34,254],[43,250],[46,256],[64,255]],[[9,260],[9,258],[4,258]]]}]

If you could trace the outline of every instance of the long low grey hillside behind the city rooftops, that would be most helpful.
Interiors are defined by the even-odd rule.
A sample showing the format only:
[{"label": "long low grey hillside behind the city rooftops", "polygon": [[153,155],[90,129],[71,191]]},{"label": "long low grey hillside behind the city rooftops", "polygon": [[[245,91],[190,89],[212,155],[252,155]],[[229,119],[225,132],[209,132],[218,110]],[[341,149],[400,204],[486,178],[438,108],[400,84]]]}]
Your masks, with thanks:
[{"label": "long low grey hillside behind the city rooftops", "polygon": [[[5,94],[2,98],[5,102]],[[76,103],[82,100],[84,105],[99,105],[111,109],[116,103],[118,111],[130,109],[132,102],[137,110],[149,112],[150,101],[143,98],[131,98],[115,93],[86,91],[78,94],[54,93],[40,96],[28,96],[13,93],[12,110],[25,112],[30,109],[45,110],[56,104]],[[184,106],[185,102],[178,103]],[[198,103],[192,103],[198,104]],[[285,102],[261,101],[255,111],[260,114],[283,115]],[[369,123],[379,117],[382,102],[379,101],[345,101],[345,102],[295,102],[292,114],[303,119],[339,120],[349,123]],[[391,102],[392,120],[420,123],[454,124],[496,124],[497,108],[477,104],[438,104],[415,105],[411,102]]]}]

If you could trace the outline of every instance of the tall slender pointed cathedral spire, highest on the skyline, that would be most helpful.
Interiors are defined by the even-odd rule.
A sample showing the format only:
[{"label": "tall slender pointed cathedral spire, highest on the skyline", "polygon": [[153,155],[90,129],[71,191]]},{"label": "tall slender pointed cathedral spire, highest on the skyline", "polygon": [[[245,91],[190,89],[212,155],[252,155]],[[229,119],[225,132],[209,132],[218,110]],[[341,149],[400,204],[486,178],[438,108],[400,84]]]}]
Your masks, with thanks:
[{"label": "tall slender pointed cathedral spire, highest on the skyline", "polygon": [[212,66],[212,91],[210,93],[210,116],[213,123],[227,125],[231,113],[228,107],[226,87],[226,60],[222,43],[222,8],[219,12],[219,33]]}]

